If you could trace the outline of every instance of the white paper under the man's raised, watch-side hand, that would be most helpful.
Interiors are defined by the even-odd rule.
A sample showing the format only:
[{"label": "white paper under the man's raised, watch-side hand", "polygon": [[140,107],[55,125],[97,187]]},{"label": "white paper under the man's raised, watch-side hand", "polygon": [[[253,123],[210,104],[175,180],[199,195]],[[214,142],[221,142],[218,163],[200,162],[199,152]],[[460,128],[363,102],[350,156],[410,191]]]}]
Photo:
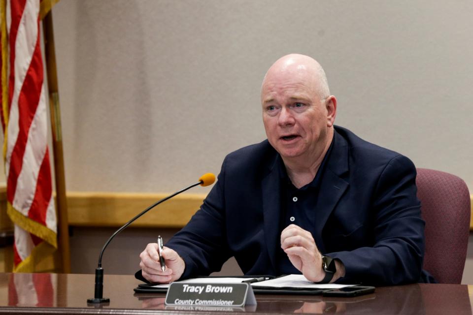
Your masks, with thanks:
[{"label": "white paper under the man's raised, watch-side hand", "polygon": [[307,288],[307,289],[338,289],[345,286],[353,286],[354,284],[315,284],[303,275],[288,275],[271,280],[252,283],[251,286],[258,288],[266,287],[287,287],[287,288]]}]

